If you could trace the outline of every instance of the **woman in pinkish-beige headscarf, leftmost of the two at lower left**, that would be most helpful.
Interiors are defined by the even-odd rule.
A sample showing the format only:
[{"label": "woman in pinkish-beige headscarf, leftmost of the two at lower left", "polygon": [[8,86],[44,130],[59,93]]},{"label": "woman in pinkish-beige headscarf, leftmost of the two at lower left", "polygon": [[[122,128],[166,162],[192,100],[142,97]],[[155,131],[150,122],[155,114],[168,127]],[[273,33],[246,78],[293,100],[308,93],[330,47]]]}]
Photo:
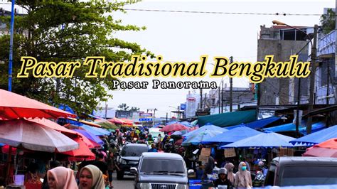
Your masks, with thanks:
[{"label": "woman in pinkish-beige headscarf, leftmost of the two at lower left", "polygon": [[47,172],[48,185],[52,189],[77,189],[74,171],[70,168],[56,167]]}]

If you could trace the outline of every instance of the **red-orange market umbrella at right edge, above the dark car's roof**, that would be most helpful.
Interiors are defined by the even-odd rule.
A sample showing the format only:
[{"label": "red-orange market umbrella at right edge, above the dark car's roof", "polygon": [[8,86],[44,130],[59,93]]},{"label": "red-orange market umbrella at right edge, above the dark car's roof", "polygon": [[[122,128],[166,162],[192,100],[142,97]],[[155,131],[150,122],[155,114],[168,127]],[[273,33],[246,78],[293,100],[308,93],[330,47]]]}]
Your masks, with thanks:
[{"label": "red-orange market umbrella at right edge, above the dark car's roof", "polygon": [[337,158],[337,138],[323,141],[320,144],[308,148],[303,156]]}]

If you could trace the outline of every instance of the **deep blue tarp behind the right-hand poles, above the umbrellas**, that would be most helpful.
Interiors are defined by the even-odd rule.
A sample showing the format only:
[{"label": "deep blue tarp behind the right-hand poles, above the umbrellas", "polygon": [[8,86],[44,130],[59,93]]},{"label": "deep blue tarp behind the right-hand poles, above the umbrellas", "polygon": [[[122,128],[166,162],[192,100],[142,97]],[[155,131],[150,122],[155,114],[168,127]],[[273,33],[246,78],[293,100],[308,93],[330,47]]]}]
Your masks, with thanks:
[{"label": "deep blue tarp behind the right-hand poles, above the umbrellas", "polygon": [[[323,122],[318,122],[318,123],[312,125],[311,132],[314,133],[316,131],[320,131],[324,127],[325,127],[325,124]],[[293,123],[282,124],[282,125],[279,125],[279,126],[269,127],[269,128],[264,129],[264,130],[265,131],[273,131],[273,132],[296,131],[296,125],[293,124]],[[305,126],[299,126],[299,132],[301,132],[301,134],[306,135],[306,127]]]}]

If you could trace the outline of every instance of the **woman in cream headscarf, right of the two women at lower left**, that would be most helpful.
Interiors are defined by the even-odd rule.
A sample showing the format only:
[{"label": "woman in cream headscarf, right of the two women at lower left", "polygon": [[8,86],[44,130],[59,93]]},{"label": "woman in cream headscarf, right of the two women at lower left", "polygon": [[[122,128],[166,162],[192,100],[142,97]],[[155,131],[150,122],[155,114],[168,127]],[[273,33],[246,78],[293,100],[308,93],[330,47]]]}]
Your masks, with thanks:
[{"label": "woman in cream headscarf, right of the two women at lower left", "polygon": [[103,173],[97,166],[87,165],[80,171],[80,189],[105,189]]}]

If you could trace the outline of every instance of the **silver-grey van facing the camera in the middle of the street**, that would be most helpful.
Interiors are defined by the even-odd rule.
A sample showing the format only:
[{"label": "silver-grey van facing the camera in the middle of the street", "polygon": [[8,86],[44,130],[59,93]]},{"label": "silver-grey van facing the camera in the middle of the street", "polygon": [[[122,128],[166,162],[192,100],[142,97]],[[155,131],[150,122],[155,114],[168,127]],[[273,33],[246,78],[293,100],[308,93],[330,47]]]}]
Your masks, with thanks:
[{"label": "silver-grey van facing the camera in the middle of the street", "polygon": [[143,153],[138,168],[131,168],[136,179],[134,188],[188,188],[188,172],[185,161],[176,153]]}]

